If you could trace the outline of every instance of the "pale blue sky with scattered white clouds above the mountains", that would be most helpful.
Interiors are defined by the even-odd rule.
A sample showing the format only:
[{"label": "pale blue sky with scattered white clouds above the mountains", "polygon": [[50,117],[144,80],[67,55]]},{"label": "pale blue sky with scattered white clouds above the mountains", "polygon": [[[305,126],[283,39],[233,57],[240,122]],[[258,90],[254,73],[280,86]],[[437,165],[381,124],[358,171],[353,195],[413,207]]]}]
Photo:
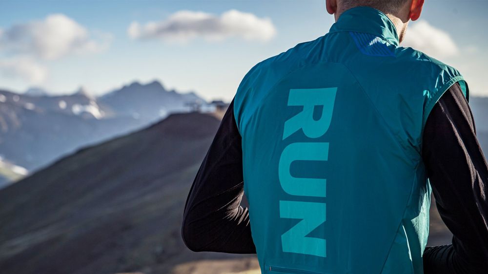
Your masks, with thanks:
[{"label": "pale blue sky with scattered white clouds above the mountains", "polygon": [[[488,0],[426,0],[401,46],[488,96]],[[133,81],[230,101],[263,59],[325,35],[325,0],[0,0],[0,89],[98,96]]]}]

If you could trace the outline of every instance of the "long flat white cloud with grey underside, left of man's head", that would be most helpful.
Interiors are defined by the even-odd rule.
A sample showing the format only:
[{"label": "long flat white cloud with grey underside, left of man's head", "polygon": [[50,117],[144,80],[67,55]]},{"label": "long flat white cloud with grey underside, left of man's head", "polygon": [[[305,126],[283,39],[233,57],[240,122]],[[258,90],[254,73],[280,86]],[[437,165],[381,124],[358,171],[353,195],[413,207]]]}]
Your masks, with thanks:
[{"label": "long flat white cloud with grey underside, left of man's head", "polygon": [[127,29],[132,39],[163,39],[187,42],[195,38],[224,40],[239,37],[267,41],[275,37],[276,28],[269,18],[252,13],[228,10],[220,16],[205,12],[178,11],[168,19],[141,25],[134,21]]}]

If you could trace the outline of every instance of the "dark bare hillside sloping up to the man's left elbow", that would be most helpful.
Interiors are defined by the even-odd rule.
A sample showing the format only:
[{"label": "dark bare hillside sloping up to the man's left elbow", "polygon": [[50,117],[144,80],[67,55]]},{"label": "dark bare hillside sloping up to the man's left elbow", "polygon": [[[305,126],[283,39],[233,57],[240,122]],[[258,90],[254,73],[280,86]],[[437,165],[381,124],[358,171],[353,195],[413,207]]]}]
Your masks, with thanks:
[{"label": "dark bare hillside sloping up to the man's left elbow", "polygon": [[174,114],[0,191],[0,272],[168,273],[188,260],[237,257],[192,253],[180,237],[186,195],[219,123]]}]

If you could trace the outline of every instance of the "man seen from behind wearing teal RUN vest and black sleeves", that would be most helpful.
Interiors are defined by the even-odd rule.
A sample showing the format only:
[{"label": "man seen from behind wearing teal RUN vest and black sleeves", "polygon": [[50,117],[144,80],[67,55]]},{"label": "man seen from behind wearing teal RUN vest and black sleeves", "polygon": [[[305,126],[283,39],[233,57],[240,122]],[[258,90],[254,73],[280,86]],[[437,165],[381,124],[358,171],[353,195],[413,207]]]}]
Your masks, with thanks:
[{"label": "man seen from behind wearing teal RUN vest and black sleeves", "polygon": [[[326,0],[329,33],[246,74],[185,205],[191,250],[257,253],[263,274],[487,273],[467,82],[399,46],[423,4]],[[426,249],[431,186],[454,236]]]}]

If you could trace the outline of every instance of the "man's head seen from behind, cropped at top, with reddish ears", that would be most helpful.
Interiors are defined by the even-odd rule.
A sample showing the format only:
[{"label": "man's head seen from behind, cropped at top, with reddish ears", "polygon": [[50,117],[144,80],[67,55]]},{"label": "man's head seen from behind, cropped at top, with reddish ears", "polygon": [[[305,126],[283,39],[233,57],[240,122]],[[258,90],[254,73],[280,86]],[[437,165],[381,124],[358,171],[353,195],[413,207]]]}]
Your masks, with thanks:
[{"label": "man's head seen from behind, cropped at top, with reddish ears", "polygon": [[424,0],[325,0],[327,12],[335,20],[347,9],[369,6],[381,10],[395,24],[400,42],[405,37],[409,20],[417,20],[422,12]]}]

